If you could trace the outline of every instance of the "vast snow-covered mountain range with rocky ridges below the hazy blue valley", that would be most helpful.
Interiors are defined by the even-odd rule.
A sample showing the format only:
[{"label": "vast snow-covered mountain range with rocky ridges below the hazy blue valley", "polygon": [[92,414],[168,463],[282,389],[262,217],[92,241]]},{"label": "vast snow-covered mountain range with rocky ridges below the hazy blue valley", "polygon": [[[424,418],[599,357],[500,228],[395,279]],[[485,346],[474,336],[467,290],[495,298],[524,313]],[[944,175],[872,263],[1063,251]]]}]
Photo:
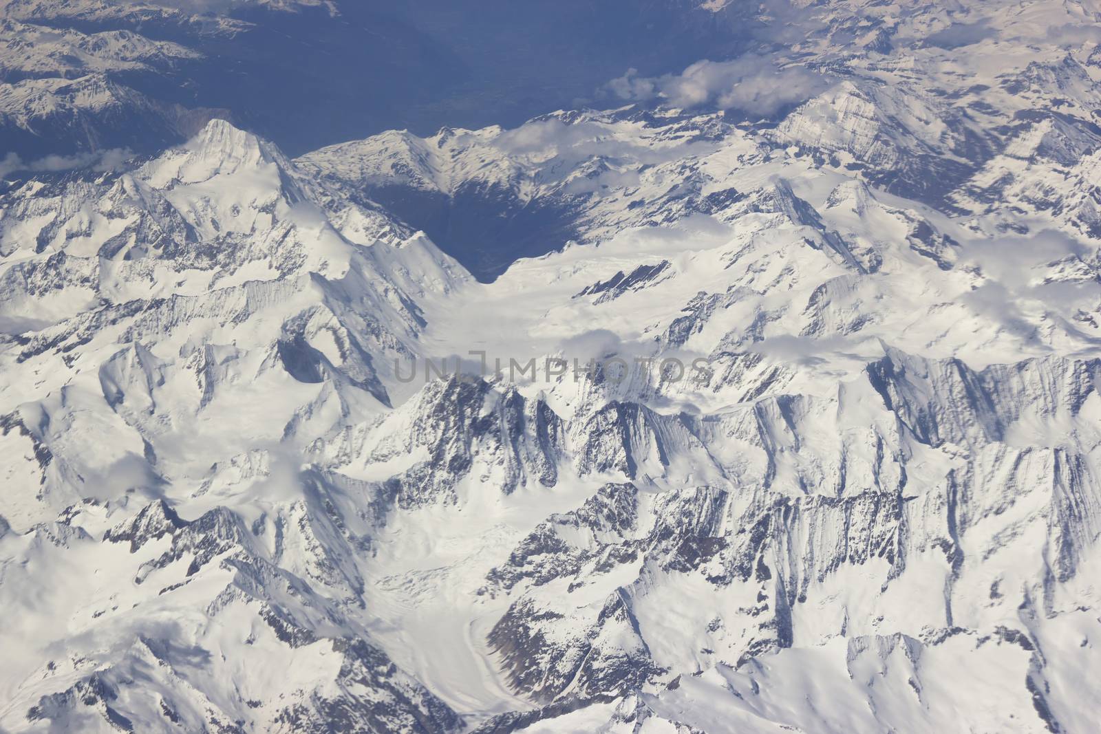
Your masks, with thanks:
[{"label": "vast snow-covered mountain range with rocky ridges below the hazy blue valley", "polygon": [[1093,731],[1099,12],[12,164],[0,730]]}]

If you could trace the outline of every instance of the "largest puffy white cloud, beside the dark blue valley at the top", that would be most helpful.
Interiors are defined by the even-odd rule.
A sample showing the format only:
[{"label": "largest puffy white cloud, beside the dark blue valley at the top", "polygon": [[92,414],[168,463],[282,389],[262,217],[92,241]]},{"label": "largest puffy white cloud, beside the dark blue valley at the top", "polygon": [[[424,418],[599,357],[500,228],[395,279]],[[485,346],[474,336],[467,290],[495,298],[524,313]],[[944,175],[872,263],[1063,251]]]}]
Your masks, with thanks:
[{"label": "largest puffy white cloud, beside the dark blue valley at the top", "polygon": [[604,86],[620,99],[663,99],[680,109],[717,107],[772,117],[829,86],[829,79],[803,66],[778,67],[766,56],[746,54],[730,62],[696,62],[680,74],[640,77],[635,69]]}]

